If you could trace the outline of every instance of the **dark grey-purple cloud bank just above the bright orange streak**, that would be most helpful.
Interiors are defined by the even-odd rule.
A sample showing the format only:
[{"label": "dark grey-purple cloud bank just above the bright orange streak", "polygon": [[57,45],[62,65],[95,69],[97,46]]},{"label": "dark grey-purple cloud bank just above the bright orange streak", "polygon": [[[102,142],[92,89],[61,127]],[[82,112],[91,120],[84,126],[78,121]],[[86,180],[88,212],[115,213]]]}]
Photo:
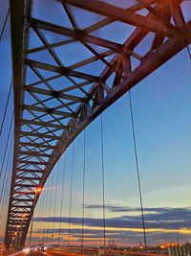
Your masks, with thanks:
[{"label": "dark grey-purple cloud bank just above the bright orange streak", "polygon": [[[99,208],[100,205],[89,205],[89,207],[93,209]],[[111,211],[118,211],[121,207],[121,211],[124,212],[137,212],[135,215],[123,215],[120,217],[108,218],[106,219],[107,227],[114,228],[141,228],[142,221],[140,213],[138,212],[138,207],[124,207],[124,206],[112,206],[107,205]],[[116,208],[117,207],[117,208]],[[95,209],[94,208],[94,209]],[[125,209],[124,209],[125,208]],[[191,208],[145,208],[145,226],[146,228],[154,228],[154,229],[183,229],[183,228],[191,228],[190,216],[191,216]],[[48,217],[48,218],[34,218],[34,221],[46,221],[46,222],[62,222],[68,223],[68,217]],[[81,218],[72,217],[71,223],[73,224],[81,224]],[[103,226],[103,220],[101,218],[85,218],[84,220],[85,226],[94,226],[101,227]]]}]

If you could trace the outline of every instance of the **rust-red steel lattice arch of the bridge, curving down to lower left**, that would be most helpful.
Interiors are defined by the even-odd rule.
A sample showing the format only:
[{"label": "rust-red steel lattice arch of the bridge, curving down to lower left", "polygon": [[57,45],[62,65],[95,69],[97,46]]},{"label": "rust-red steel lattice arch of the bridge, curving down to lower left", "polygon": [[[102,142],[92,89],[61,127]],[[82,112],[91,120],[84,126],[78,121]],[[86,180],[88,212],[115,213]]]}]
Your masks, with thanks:
[{"label": "rust-red steel lattice arch of the bridge, curving down to lower left", "polygon": [[[138,0],[126,9],[97,0],[52,2],[63,9],[71,26],[47,21],[43,13],[40,19],[33,17],[30,0],[10,2],[15,142],[7,248],[21,221],[20,242],[24,245],[34,189],[44,186],[74,138],[104,109],[191,42],[191,21],[185,20],[182,12],[184,1]],[[81,28],[76,18],[79,11],[93,15],[93,20],[97,15],[98,21]],[[115,23],[133,28],[122,43],[115,35],[113,39],[107,35],[107,28]],[[31,47],[34,35],[41,44]],[[59,40],[56,37],[53,41],[48,35]],[[138,52],[142,42],[148,46],[144,54],[141,48]],[[84,58],[64,63],[62,55],[74,44],[83,47]],[[45,52],[52,61],[40,57]],[[97,75],[98,66],[102,70]]]}]

